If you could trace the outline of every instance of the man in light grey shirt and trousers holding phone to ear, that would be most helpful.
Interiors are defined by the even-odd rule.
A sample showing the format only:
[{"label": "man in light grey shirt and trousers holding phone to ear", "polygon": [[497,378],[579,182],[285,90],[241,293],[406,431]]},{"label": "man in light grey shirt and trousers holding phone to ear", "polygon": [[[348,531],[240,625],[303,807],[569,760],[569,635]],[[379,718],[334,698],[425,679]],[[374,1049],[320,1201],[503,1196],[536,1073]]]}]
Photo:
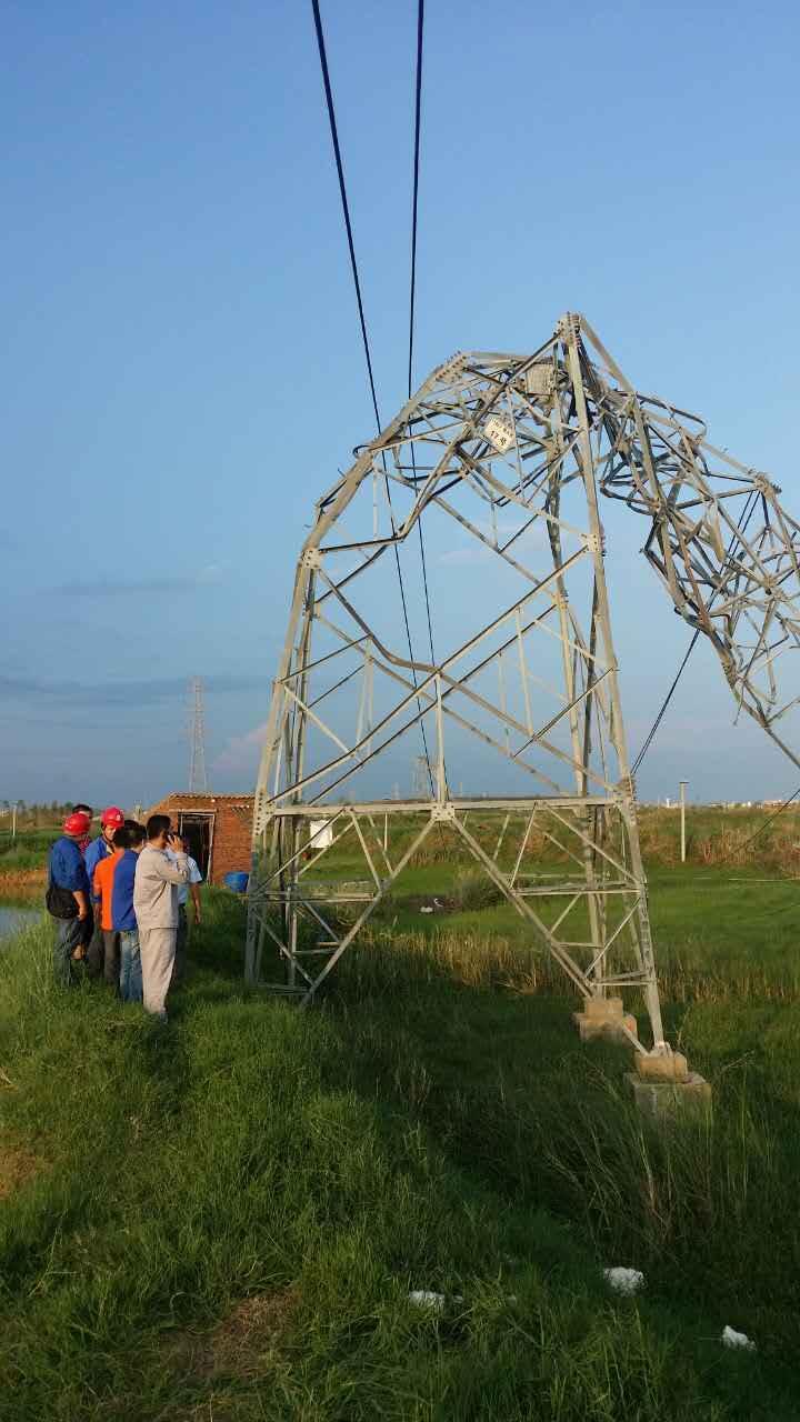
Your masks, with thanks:
[{"label": "man in light grey shirt and trousers holding phone to ear", "polygon": [[[167,845],[175,863],[167,857]],[[189,877],[184,840],[169,833],[169,815],[151,815],[147,845],[137,862],[134,913],[140,930],[145,1012],[167,1021],[167,994],[175,963],[178,936],[178,884]]]}]

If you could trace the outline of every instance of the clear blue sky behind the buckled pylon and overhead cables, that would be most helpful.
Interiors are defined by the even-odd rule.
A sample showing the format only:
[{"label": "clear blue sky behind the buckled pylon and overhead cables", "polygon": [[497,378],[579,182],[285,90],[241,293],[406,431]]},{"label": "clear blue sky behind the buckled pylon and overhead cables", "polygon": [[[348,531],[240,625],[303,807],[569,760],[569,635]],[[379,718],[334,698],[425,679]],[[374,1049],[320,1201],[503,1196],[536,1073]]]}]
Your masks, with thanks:
[{"label": "clear blue sky behind the buckled pylon and overhead cables", "polygon": [[[414,10],[323,4],[386,419]],[[799,30],[789,3],[428,0],[417,377],[584,310],[797,513]],[[192,675],[212,786],[243,789],[313,502],[373,429],[310,4],[7,3],[3,48],[0,798],[184,786]],[[635,751],[688,630],[615,536]],[[732,717],[698,647],[642,793],[793,789]]]}]

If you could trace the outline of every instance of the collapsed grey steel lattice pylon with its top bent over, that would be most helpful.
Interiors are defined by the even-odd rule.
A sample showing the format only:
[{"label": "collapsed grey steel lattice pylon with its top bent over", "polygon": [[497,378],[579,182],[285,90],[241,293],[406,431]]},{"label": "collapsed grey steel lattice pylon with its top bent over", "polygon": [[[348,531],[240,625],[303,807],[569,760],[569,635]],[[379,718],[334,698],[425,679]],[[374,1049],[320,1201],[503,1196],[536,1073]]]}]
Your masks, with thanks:
[{"label": "collapsed grey steel lattice pylon with its top bent over", "polygon": [[[632,1018],[623,1031],[665,1048],[601,492],[649,518],[672,602],[774,735],[776,641],[799,629],[797,525],[774,486],[638,394],[579,316],[528,356],[456,354],[356,448],[299,556],[256,789],[249,981],[313,998],[407,867],[465,856],[531,951],[589,1007],[641,994],[649,1041]],[[420,757],[413,798],[393,799]]]}]

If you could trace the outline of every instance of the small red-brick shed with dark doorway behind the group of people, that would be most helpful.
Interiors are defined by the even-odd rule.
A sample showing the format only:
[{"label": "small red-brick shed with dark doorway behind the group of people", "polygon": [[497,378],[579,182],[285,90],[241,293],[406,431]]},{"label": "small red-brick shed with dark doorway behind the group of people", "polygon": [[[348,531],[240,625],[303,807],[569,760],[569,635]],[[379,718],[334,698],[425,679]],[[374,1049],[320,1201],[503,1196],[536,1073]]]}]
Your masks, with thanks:
[{"label": "small red-brick shed with dark doorway behind the group of people", "polygon": [[204,879],[221,884],[236,869],[249,872],[253,795],[189,795],[175,791],[144,816],[169,815]]}]

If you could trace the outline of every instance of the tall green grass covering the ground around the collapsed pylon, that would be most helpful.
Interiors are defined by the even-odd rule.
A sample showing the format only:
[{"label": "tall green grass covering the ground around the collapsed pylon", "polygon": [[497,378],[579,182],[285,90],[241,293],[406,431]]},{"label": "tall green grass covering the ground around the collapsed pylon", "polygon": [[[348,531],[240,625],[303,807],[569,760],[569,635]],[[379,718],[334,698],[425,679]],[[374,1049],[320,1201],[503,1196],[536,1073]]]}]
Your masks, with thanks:
[{"label": "tall green grass covering the ground around the collapsed pylon", "polygon": [[443,872],[310,1011],[242,988],[219,893],[165,1030],[57,993],[44,931],[0,956],[3,1416],[797,1418],[793,886],[652,875],[715,1113],[651,1136],[518,920],[468,882],[420,917]]}]

